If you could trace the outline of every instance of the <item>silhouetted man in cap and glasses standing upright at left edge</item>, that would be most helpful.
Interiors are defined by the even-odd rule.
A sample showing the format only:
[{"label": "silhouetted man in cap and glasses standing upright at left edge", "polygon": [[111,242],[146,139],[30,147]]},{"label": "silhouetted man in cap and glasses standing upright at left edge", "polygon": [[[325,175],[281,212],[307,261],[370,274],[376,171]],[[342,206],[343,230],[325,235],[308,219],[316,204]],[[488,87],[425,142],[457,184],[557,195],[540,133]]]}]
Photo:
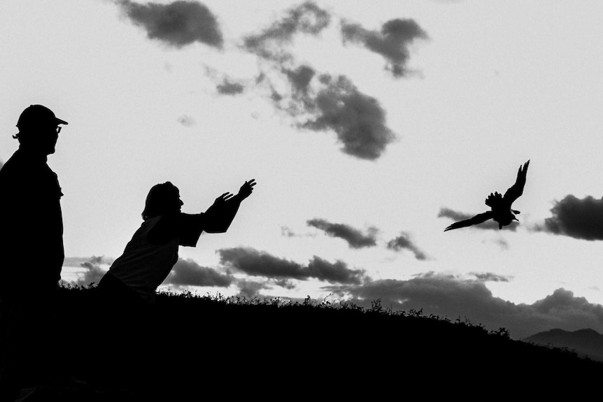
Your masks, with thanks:
[{"label": "silhouetted man in cap and glasses standing upright at left edge", "polygon": [[55,152],[59,124],[67,122],[45,106],[23,110],[13,136],[19,149],[0,169],[0,385],[5,399],[15,387],[47,375],[49,367],[64,248],[63,194],[46,161]]}]

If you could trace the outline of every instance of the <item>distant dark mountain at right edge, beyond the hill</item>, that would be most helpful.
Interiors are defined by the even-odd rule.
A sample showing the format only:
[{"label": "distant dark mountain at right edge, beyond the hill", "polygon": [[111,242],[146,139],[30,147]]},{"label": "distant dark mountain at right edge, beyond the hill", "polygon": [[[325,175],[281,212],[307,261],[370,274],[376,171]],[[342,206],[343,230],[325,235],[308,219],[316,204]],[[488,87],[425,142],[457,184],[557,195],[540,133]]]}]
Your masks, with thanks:
[{"label": "distant dark mountain at right edge, beyond the hill", "polygon": [[579,329],[573,332],[551,329],[551,331],[539,332],[522,340],[537,345],[567,347],[569,350],[574,350],[576,354],[603,361],[603,335],[593,329]]}]

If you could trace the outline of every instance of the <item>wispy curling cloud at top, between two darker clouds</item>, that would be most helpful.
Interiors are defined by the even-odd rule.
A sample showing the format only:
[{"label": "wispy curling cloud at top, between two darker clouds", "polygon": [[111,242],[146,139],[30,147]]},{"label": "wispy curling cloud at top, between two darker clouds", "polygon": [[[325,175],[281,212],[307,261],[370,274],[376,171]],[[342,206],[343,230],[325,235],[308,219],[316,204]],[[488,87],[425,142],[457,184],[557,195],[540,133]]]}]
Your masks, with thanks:
[{"label": "wispy curling cloud at top, between two darker clouds", "polygon": [[292,59],[290,52],[283,45],[292,42],[295,34],[318,35],[322,29],[329,26],[331,17],[312,1],[288,10],[287,14],[274,22],[260,34],[244,38],[243,48],[255,53],[262,59],[274,62],[285,62]]}]

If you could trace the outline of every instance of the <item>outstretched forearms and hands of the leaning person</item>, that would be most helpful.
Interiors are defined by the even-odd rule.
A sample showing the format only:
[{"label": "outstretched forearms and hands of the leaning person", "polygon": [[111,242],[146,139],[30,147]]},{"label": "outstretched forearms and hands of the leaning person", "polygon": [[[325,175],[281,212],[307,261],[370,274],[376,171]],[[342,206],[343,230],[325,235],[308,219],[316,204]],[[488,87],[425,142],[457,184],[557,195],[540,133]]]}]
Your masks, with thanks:
[{"label": "outstretched forearms and hands of the leaning person", "polygon": [[238,194],[224,193],[215,199],[213,205],[205,211],[204,231],[207,233],[227,231],[241,206],[241,201],[251,195],[255,184],[255,179],[251,179],[243,183]]}]

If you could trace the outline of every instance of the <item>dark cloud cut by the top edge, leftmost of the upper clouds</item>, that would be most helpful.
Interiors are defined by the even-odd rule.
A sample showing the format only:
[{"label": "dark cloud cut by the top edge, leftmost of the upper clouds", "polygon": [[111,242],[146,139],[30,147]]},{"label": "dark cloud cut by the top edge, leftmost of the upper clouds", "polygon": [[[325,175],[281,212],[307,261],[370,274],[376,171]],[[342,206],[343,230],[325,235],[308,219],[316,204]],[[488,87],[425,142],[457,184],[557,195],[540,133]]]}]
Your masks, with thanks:
[{"label": "dark cloud cut by the top edge, leftmost of the upper clouds", "polygon": [[150,39],[174,48],[195,42],[222,48],[224,40],[215,15],[197,1],[139,4],[117,0],[116,3],[134,24],[146,30]]}]

